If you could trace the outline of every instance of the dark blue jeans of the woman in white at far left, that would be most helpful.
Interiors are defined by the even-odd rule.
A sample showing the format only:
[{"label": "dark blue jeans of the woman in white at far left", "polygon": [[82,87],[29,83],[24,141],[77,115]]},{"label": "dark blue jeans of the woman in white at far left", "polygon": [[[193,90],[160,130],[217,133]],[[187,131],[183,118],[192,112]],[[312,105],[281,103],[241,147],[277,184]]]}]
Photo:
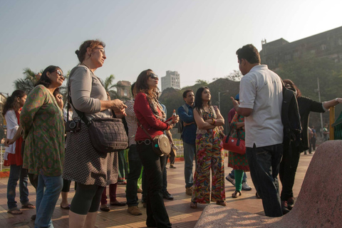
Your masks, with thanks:
[{"label": "dark blue jeans of the woman in white at far left", "polygon": [[26,204],[28,203],[27,170],[23,169],[22,165],[11,165],[9,170],[9,182],[7,184],[7,206],[9,209],[18,207],[16,204],[16,185],[18,180],[20,202],[21,204]]}]

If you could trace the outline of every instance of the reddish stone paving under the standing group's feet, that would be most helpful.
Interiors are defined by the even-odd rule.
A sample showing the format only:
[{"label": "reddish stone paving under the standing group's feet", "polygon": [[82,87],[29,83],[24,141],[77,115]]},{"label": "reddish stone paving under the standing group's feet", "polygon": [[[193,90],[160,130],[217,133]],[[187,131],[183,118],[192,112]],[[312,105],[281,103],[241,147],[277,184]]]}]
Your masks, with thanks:
[{"label": "reddish stone paving under the standing group's feet", "polygon": [[[294,195],[299,194],[301,189],[301,184],[304,179],[304,175],[311,161],[312,154],[303,155],[301,154],[301,159],[299,161],[299,167],[297,170],[296,181],[294,185]],[[225,161],[225,175],[228,175],[232,170],[227,167],[227,157]],[[191,197],[185,194],[185,182],[184,182],[184,162],[176,162],[176,169],[167,169],[167,182],[168,191],[172,194],[175,199],[167,200],[165,199],[165,207],[167,213],[169,214],[170,221],[172,222],[172,227],[177,228],[190,228],[195,227],[199,216],[202,214],[202,210],[207,204],[198,204],[197,209],[190,208]],[[226,200],[227,206],[233,209],[239,209],[243,212],[250,212],[255,214],[264,215],[261,200],[255,197],[255,189],[250,178],[249,172],[247,172],[249,185],[253,188],[252,191],[242,191],[242,196],[233,199],[232,193],[235,188],[230,182],[225,182],[226,190]],[[7,190],[8,178],[0,178],[0,227],[21,227],[21,228],[31,228],[34,227],[33,221],[31,221],[31,216],[36,214],[35,209],[22,209],[23,214],[12,215],[7,213]],[[29,199],[33,204],[36,204],[36,194],[35,190],[31,184],[28,185]],[[71,192],[68,194],[68,201],[71,202],[75,191],[73,189],[73,182],[71,183]],[[125,185],[118,185],[117,190],[118,200],[125,201]],[[138,194],[139,199],[141,195]],[[19,201],[19,186],[16,188],[16,200]],[[56,204],[56,209],[53,213],[53,226],[55,228],[66,228],[68,227],[68,210],[61,209],[61,197],[58,199]],[[215,204],[212,202],[211,204]],[[21,204],[19,202],[19,207]],[[127,207],[110,206],[110,212],[102,212],[99,210],[98,217],[96,219],[96,227],[146,227],[146,209],[139,204],[142,210],[142,215],[133,216],[128,214]],[[223,215],[224,216],[224,215]]]}]

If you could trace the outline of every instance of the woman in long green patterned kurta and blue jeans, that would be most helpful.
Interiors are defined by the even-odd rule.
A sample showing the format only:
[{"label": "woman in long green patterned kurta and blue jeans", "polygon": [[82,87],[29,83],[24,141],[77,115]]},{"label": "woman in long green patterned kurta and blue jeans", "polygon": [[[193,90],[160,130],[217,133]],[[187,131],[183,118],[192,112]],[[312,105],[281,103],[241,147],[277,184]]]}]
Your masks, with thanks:
[{"label": "woman in long green patterned kurta and blue jeans", "polygon": [[51,226],[53,209],[63,187],[63,99],[58,94],[63,81],[61,68],[48,66],[28,94],[20,116],[26,140],[23,167],[38,175],[36,227]]}]

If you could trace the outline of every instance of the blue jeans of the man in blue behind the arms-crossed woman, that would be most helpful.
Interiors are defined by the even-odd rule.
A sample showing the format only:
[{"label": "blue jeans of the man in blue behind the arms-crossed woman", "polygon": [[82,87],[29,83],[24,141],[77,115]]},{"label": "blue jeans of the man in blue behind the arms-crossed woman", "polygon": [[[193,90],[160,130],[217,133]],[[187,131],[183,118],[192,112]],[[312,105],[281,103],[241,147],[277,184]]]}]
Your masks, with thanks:
[{"label": "blue jeans of the man in blue behind the arms-crossed woman", "polygon": [[192,187],[192,185],[194,185],[194,175],[192,174],[192,167],[194,166],[194,157],[196,156],[196,145],[191,145],[183,141],[183,147],[185,161],[185,187]]}]

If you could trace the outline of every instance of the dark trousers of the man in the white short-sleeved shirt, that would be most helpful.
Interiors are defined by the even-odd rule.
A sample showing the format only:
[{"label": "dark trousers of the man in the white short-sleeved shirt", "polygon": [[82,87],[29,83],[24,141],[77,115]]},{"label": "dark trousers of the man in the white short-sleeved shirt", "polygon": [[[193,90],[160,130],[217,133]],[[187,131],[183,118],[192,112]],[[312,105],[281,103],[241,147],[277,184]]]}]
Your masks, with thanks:
[{"label": "dark trousers of the man in the white short-sleeved shirt", "polygon": [[251,170],[251,177],[258,194],[262,199],[265,215],[281,217],[279,197],[279,163],[283,155],[283,145],[266,147],[246,147],[246,155]]}]

